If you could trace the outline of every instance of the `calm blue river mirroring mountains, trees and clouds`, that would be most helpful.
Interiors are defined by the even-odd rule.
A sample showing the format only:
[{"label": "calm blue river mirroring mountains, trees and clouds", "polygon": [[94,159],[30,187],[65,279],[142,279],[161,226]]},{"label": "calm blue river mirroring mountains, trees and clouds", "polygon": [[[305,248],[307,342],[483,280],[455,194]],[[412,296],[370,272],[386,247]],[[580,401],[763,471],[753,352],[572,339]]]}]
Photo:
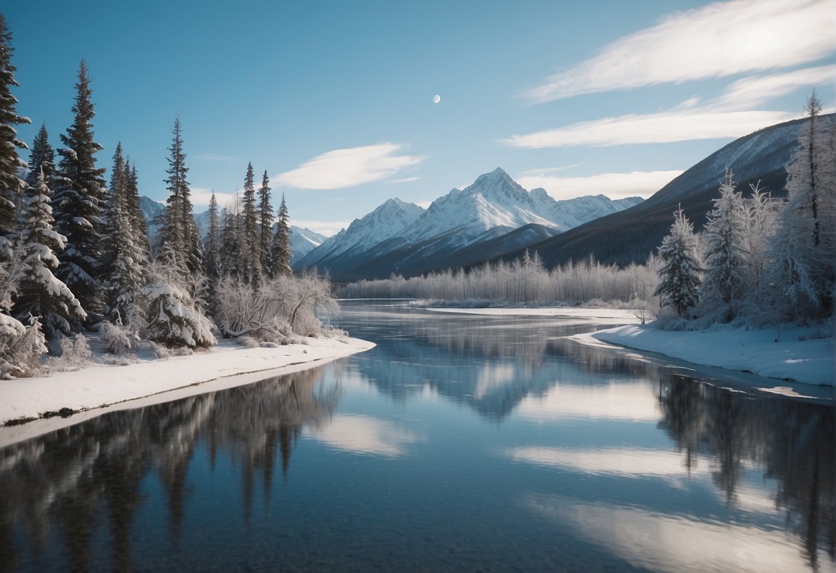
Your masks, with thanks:
[{"label": "calm blue river mirroring mountains, trees and clouds", "polygon": [[832,400],[554,318],[332,322],[377,347],[0,449],[0,571],[833,570]]}]

